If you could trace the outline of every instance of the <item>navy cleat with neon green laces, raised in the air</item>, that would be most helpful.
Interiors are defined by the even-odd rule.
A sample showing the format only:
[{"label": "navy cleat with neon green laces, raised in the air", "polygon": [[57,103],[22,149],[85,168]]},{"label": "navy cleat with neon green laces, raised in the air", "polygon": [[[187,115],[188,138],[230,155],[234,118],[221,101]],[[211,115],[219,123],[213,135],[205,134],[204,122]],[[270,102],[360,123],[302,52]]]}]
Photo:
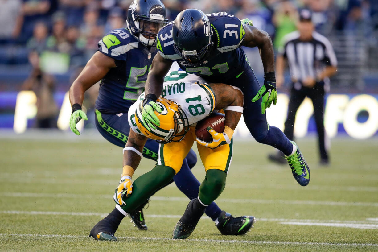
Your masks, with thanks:
[{"label": "navy cleat with neon green laces, raised in the air", "polygon": [[[297,146],[294,141],[290,141],[293,145]],[[305,187],[310,182],[310,168],[303,158],[302,152],[297,146],[297,151],[291,156],[285,156],[288,160],[291,172],[293,173],[294,179],[297,180],[299,185]]]}]

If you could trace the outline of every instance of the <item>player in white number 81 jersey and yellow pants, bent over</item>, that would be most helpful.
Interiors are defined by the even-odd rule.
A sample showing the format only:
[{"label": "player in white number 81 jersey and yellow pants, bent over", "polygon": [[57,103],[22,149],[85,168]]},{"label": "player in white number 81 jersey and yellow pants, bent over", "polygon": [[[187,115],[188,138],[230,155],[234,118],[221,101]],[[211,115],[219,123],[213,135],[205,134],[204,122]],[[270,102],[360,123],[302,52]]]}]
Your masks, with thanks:
[{"label": "player in white number 81 jersey and yellow pants, bent over", "polygon": [[[113,199],[118,211],[127,216],[140,202],[146,201],[180,171],[187,152],[197,142],[206,177],[200,185],[198,197],[189,202],[174,228],[173,238],[185,239],[195,229],[206,206],[217,199],[225,187],[232,160],[232,134],[243,112],[243,93],[226,84],[206,84],[199,76],[180,70],[173,71],[166,77],[162,95],[156,103],[158,107],[155,116],[160,120],[160,126],[148,124],[141,119],[143,99],[144,93],[129,110],[130,135],[124,148],[121,181]],[[222,109],[225,112],[224,132],[217,133],[208,127],[212,142],[196,138],[195,124],[212,112]],[[155,168],[132,183],[132,175],[139,165],[141,151],[148,138],[160,142],[158,162]],[[223,226],[230,221],[232,224],[226,227],[239,227],[235,233],[243,234],[253,227],[255,218],[233,218],[224,213],[224,218],[219,219],[215,225]],[[118,225],[119,223],[116,226]]]}]

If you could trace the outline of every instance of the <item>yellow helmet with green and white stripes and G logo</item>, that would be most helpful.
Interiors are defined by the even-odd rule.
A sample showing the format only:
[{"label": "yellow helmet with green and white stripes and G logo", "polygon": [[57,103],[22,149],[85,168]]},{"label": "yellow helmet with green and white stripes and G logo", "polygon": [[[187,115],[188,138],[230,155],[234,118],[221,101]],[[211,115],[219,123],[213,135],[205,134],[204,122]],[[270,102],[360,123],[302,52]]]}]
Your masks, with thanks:
[{"label": "yellow helmet with green and white stripes and G logo", "polygon": [[160,120],[160,126],[156,129],[148,130],[142,120],[142,103],[135,111],[135,123],[138,129],[148,138],[157,140],[159,143],[169,143],[181,141],[186,132],[189,131],[189,122],[185,112],[174,101],[159,97],[156,104],[160,106],[161,113],[155,111]]}]

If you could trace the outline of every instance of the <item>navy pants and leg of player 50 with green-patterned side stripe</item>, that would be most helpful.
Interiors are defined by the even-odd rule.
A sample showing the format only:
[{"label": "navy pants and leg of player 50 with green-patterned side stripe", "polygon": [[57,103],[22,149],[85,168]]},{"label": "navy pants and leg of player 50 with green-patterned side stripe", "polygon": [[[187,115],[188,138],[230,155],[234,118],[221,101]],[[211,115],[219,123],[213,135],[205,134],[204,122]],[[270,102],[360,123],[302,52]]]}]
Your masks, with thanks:
[{"label": "navy pants and leg of player 50 with green-patterned side stripe", "polygon": [[[127,114],[115,115],[115,114],[102,114],[98,110],[95,110],[96,114],[96,128],[100,134],[109,142],[124,148],[127,142],[127,138],[130,132],[129,122],[127,120]],[[159,144],[152,139],[147,140],[143,148],[143,156],[152,159],[155,162],[158,159]],[[197,198],[199,193],[200,182],[194,177],[190,170],[197,163],[197,156],[191,149],[184,159],[181,170],[173,177],[170,182],[175,182],[177,188],[182,191],[189,199]],[[169,183],[169,184],[170,184]],[[167,184],[167,185],[169,185]],[[212,202],[206,207],[206,215],[208,215],[213,221],[218,218],[222,211],[220,208]]]}]

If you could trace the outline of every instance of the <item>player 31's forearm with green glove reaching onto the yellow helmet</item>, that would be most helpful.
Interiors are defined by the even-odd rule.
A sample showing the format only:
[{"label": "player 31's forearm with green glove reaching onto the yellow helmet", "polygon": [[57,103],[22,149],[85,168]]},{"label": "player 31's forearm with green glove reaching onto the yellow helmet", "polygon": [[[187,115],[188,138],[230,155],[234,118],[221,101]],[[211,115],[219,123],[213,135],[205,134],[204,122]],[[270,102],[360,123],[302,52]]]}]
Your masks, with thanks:
[{"label": "player 31's forearm with green glove reaching onto the yellow helmet", "polygon": [[142,119],[147,127],[156,129],[154,125],[160,126],[160,120],[154,111],[160,111],[156,104],[156,99],[161,95],[163,90],[164,77],[166,76],[172,61],[164,59],[160,53],[156,54],[152,60],[151,70],[147,75],[146,86],[144,87],[146,95],[143,100]]}]

